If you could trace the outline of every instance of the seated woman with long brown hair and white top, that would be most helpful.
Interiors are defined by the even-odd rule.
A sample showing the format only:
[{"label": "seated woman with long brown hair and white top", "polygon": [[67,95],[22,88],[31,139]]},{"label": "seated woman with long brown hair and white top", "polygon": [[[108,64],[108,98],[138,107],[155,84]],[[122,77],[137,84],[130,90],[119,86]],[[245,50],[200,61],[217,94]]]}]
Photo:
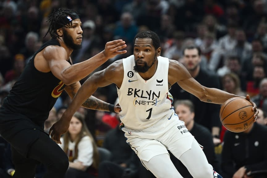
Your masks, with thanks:
[{"label": "seated woman with long brown hair and white top", "polygon": [[65,178],[94,177],[99,166],[98,150],[81,113],[73,115],[68,131],[60,140],[62,144],[59,146],[70,162]]}]

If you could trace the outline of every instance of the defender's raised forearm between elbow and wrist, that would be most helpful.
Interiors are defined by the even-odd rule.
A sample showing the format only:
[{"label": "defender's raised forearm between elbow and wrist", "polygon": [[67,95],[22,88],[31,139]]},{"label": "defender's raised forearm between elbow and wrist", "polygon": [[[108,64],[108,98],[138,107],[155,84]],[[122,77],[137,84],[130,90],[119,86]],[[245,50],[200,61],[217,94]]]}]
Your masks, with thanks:
[{"label": "defender's raised forearm between elbow and wrist", "polygon": [[103,51],[97,55],[87,59],[86,61],[74,64],[61,72],[65,85],[70,85],[74,82],[80,81],[89,74],[91,74],[96,68],[106,62],[108,58],[104,55]]}]

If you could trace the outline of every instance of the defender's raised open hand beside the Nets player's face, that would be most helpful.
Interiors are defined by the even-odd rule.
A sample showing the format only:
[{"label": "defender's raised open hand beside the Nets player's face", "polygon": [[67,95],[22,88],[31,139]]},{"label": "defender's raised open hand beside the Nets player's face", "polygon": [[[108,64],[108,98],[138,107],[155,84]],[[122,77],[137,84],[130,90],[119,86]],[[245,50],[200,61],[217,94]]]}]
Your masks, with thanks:
[{"label": "defender's raised open hand beside the Nets player's face", "polygon": [[117,56],[118,54],[127,53],[126,50],[120,51],[121,49],[126,48],[125,41],[123,40],[113,40],[106,43],[103,54],[108,59]]}]

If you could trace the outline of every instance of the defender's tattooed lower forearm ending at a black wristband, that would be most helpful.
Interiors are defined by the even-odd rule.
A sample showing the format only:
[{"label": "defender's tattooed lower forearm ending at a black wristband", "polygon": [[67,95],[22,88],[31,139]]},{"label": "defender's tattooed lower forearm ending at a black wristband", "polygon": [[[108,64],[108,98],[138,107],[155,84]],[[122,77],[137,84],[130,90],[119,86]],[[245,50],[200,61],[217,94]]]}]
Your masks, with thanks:
[{"label": "defender's tattooed lower forearm ending at a black wristband", "polygon": [[90,96],[82,105],[88,109],[101,110],[101,111],[109,111],[108,103],[95,98],[94,96]]}]

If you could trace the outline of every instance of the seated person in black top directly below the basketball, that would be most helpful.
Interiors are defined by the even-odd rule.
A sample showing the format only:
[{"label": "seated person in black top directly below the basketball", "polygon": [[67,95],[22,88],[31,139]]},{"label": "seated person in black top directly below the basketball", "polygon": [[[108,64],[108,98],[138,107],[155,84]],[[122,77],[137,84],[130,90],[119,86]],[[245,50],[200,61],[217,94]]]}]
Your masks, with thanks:
[{"label": "seated person in black top directly below the basketball", "polygon": [[[244,178],[267,168],[267,127],[254,122],[244,132],[226,131],[222,148],[222,177]],[[256,178],[265,178],[257,175]]]}]

